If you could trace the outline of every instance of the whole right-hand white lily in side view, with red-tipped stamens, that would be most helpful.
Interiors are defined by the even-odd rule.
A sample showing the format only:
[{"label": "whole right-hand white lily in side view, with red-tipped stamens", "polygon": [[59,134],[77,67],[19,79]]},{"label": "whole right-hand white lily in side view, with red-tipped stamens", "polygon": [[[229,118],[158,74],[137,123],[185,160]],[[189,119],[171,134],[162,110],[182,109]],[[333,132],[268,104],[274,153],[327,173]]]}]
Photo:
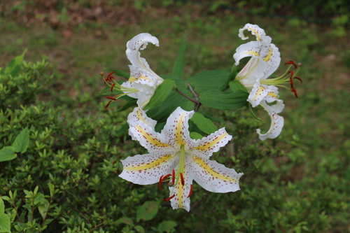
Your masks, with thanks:
[{"label": "whole right-hand white lily in side view, with red-tipped stamens", "polygon": [[[295,75],[299,69],[295,73],[287,70],[283,76],[269,78],[281,62],[279,49],[271,43],[272,38],[266,36],[265,31],[258,25],[246,24],[244,28],[239,29],[238,36],[246,40],[248,37],[244,36],[244,30],[251,31],[251,34],[256,37],[256,41],[240,45],[233,55],[236,65],[239,64],[242,58],[251,57],[246,66],[237,74],[236,79],[250,92],[247,101],[251,103],[253,108],[258,105],[262,106],[271,118],[271,126],[267,133],[260,134],[260,129],[257,129],[259,138],[261,140],[274,139],[276,136],[279,136],[283,128],[283,118],[276,113],[281,113],[284,108],[283,101],[279,99],[279,92],[276,86],[286,87],[283,84],[290,83],[290,89],[286,88],[294,92],[297,97],[297,92],[293,87],[293,79],[297,78]],[[286,64],[290,64],[288,69],[291,66],[294,66],[295,69],[297,68],[294,62],[290,61]],[[301,81],[300,78],[297,79]],[[276,104],[272,106],[267,104],[274,101],[276,101]]]}]

